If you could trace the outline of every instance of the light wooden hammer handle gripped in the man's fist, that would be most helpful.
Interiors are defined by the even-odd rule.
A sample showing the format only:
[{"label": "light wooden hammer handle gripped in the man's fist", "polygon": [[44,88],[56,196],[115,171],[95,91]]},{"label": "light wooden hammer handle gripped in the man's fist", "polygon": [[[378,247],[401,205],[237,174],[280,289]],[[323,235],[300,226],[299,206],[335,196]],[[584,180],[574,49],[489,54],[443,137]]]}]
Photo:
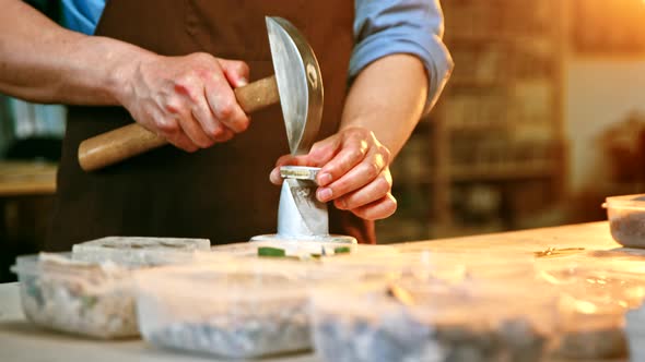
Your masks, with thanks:
[{"label": "light wooden hammer handle gripped in the man's fist", "polygon": [[[280,101],[275,76],[269,76],[235,89],[235,97],[246,113]],[[139,123],[132,123],[81,142],[79,164],[94,171],[167,144],[167,140]]]}]

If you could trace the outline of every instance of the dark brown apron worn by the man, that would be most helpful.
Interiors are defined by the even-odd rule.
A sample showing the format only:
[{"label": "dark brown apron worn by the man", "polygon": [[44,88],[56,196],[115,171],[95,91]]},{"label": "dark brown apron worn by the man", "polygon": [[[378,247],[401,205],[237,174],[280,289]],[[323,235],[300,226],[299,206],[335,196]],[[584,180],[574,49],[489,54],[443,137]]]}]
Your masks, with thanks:
[{"label": "dark brown apron worn by the man", "polygon": [[[320,62],[324,138],[341,117],[353,12],[349,0],[110,0],[96,34],[164,56],[206,51],[245,60],[258,80],[273,73],[265,16],[285,17],[304,32]],[[80,169],[81,141],[130,122],[120,107],[69,109],[48,251],[105,236],[209,238],[220,244],[275,232],[280,188],[269,182],[269,172],[289,153],[279,106],[251,114],[245,133],[209,149],[186,154],[166,146],[103,171]],[[373,222],[332,205],[330,230],[375,242]]]}]

